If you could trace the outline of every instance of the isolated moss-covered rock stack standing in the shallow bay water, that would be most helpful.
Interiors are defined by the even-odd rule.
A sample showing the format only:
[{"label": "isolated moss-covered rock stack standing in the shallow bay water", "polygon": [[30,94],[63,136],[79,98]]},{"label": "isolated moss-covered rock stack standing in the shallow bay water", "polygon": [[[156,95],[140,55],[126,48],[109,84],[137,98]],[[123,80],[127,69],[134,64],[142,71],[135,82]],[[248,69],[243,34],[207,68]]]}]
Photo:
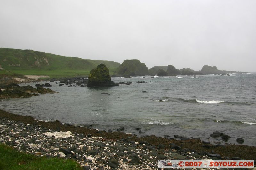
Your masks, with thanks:
[{"label": "isolated moss-covered rock stack standing in the shallow bay water", "polygon": [[105,64],[99,64],[97,68],[91,70],[88,77],[87,87],[110,87],[118,86],[113,81],[109,75],[109,70]]}]

